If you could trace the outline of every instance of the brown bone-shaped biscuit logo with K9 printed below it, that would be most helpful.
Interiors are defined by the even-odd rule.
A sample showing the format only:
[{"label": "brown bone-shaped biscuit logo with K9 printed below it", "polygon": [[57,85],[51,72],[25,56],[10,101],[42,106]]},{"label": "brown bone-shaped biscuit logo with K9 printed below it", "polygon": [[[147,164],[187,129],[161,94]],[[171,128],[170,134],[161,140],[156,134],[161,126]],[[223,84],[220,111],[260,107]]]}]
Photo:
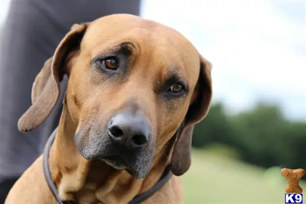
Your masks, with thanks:
[{"label": "brown bone-shaped biscuit logo with K9 printed below it", "polygon": [[298,181],[305,175],[305,170],[283,168],[281,172],[288,181],[288,186],[285,189],[285,204],[303,203],[303,189],[299,186]]}]

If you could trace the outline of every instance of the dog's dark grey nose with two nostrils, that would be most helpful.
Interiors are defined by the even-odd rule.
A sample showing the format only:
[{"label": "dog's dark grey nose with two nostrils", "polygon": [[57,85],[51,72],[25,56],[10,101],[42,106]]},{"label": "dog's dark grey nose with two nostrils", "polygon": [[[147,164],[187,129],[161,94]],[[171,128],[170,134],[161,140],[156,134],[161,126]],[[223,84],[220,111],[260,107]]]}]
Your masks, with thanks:
[{"label": "dog's dark grey nose with two nostrils", "polygon": [[122,113],[111,118],[108,134],[115,143],[136,149],[146,146],[151,131],[145,118]]}]

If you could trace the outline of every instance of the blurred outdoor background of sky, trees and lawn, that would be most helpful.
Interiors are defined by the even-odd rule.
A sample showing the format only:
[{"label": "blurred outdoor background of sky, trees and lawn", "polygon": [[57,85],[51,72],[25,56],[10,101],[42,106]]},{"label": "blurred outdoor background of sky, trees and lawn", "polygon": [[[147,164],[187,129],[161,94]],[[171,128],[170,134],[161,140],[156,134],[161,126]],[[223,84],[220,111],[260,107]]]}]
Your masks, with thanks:
[{"label": "blurred outdoor background of sky, trees and lawn", "polygon": [[[9,4],[0,0],[1,22]],[[213,103],[182,176],[186,203],[284,203],[281,168],[306,169],[305,7],[142,1],[142,17],[181,32],[213,64]]]}]

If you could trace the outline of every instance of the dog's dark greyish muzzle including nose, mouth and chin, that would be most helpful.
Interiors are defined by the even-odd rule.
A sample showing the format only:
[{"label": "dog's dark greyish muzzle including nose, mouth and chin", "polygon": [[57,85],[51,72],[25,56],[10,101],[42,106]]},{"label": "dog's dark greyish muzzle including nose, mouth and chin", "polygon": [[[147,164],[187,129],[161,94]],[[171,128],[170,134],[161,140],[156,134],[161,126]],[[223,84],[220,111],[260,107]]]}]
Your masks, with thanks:
[{"label": "dog's dark greyish muzzle including nose, mouth and chin", "polygon": [[104,125],[77,131],[75,144],[85,159],[102,160],[113,168],[125,169],[137,179],[143,179],[155,154],[151,130],[142,114],[122,111]]}]

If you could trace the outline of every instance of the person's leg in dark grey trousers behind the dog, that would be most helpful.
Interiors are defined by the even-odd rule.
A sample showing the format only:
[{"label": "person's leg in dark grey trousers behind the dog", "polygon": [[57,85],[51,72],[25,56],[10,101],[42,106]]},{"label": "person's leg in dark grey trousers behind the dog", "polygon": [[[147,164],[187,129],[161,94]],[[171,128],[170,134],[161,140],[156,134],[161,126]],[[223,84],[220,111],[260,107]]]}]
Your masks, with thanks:
[{"label": "person's leg in dark grey trousers behind the dog", "polygon": [[12,1],[1,34],[0,67],[0,203],[18,177],[42,153],[58,125],[61,97],[47,120],[28,134],[17,130],[19,117],[31,105],[31,89],[45,60],[74,23],[113,13],[139,15],[133,1]]}]

